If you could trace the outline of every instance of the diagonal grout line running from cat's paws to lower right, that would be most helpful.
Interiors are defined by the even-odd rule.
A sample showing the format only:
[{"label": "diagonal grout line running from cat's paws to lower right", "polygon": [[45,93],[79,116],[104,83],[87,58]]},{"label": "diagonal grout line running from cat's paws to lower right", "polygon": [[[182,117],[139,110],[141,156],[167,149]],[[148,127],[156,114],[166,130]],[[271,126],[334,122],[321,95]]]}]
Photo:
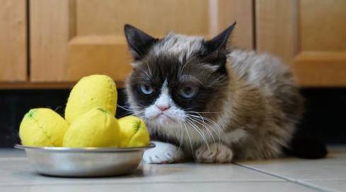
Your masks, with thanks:
[{"label": "diagonal grout line running from cat's paws to lower right", "polygon": [[313,189],[316,189],[317,191],[322,191],[322,192],[340,192],[340,191],[335,191],[335,190],[330,189],[330,188],[325,188],[323,186],[318,186],[318,185],[315,185],[315,184],[310,184],[310,183],[305,182],[305,181],[299,181],[297,179],[292,179],[292,178],[289,178],[287,176],[282,176],[282,175],[279,175],[279,174],[274,174],[274,173],[271,173],[271,172],[266,172],[266,171],[264,171],[262,169],[258,169],[258,168],[255,168],[255,167],[250,167],[250,166],[245,165],[245,164],[239,164],[237,162],[234,162],[234,164],[236,164],[236,165],[238,165],[240,167],[245,167],[247,169],[252,169],[252,170],[254,170],[256,172],[261,172],[263,174],[269,174],[271,176],[275,176],[275,177],[278,177],[280,179],[284,179],[286,181],[290,181],[290,182],[292,182],[294,184],[299,184],[301,186],[306,186],[308,188],[313,188]]}]

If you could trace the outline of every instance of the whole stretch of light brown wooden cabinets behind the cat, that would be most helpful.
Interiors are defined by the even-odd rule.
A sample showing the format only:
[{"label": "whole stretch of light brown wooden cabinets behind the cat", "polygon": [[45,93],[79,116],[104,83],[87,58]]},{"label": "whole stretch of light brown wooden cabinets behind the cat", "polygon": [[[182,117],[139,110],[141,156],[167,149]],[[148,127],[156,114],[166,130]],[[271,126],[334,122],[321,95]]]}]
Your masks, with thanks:
[{"label": "whole stretch of light brown wooden cabinets behind the cat", "polygon": [[299,85],[346,86],[345,10],[344,0],[2,0],[0,88],[69,88],[93,73],[122,87],[125,23],[209,38],[235,20],[233,44],[281,57]]}]

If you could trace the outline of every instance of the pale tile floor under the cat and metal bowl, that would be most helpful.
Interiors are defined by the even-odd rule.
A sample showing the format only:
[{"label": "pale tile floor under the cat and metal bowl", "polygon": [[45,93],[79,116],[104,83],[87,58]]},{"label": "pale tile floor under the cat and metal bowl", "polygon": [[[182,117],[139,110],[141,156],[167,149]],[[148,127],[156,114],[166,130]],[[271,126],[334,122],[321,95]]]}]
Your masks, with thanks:
[{"label": "pale tile floor under the cat and metal bowl", "polygon": [[346,191],[346,146],[323,160],[142,164],[127,176],[88,179],[36,174],[23,150],[0,149],[0,191]]}]

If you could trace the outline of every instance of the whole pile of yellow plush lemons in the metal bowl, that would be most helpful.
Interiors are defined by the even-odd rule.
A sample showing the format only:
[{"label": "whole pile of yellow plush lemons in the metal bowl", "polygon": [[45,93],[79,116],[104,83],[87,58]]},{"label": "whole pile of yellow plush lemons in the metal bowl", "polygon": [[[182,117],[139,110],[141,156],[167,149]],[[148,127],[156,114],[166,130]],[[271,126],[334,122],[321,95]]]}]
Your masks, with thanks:
[{"label": "whole pile of yellow plush lemons in the metal bowl", "polygon": [[65,118],[52,109],[30,109],[19,128],[23,145],[67,148],[127,148],[149,145],[142,119],[115,119],[117,88],[112,78],[81,78],[69,95]]}]

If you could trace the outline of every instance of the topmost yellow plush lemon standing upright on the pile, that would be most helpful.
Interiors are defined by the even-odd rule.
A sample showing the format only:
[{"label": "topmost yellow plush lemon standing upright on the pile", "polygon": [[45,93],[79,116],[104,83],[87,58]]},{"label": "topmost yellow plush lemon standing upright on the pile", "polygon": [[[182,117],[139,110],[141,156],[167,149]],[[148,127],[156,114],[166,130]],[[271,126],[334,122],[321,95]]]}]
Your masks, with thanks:
[{"label": "topmost yellow plush lemon standing upright on the pile", "polygon": [[117,88],[112,78],[92,75],[81,78],[69,95],[65,109],[65,119],[71,124],[79,116],[93,109],[104,107],[115,116]]}]

